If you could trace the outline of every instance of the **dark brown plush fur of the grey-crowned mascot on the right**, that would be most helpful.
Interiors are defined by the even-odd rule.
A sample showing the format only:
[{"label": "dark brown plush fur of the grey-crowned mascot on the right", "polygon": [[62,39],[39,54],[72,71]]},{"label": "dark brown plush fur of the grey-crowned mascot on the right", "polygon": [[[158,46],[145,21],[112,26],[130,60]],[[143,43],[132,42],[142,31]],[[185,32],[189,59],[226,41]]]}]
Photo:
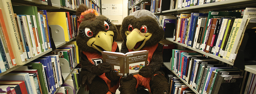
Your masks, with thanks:
[{"label": "dark brown plush fur of the grey-crowned mascot on the right", "polygon": [[[128,31],[129,25],[132,25],[133,29],[140,29],[142,25],[145,25],[147,27],[148,33],[152,34],[150,39],[146,41],[143,48],[146,46],[150,47],[158,45],[150,60],[149,65],[140,69],[139,75],[142,75],[145,78],[151,77],[151,81],[149,82],[151,93],[164,94],[164,90],[169,90],[169,93],[170,87],[168,86],[167,79],[164,77],[164,75],[161,75],[161,72],[158,71],[163,64],[162,46],[158,42],[163,38],[164,30],[158,22],[156,16],[148,10],[138,10],[123,19],[122,26],[120,28],[120,34],[123,38],[123,43],[120,50],[122,53],[129,52],[127,48],[127,45],[129,44],[127,44],[128,42],[126,43],[126,32]],[[136,39],[134,39],[134,41],[135,40]],[[154,74],[160,75],[154,76]],[[136,83],[138,82],[132,74],[129,74],[126,77],[122,77],[120,79],[119,87],[120,94],[136,94]]]}]

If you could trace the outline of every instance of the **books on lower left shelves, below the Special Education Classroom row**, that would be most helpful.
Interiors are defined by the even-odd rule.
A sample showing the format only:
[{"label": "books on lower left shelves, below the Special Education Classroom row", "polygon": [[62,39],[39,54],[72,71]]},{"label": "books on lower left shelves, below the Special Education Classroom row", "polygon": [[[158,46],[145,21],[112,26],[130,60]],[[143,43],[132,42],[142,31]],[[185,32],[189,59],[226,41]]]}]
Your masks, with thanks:
[{"label": "books on lower left shelves, below the Special Education Classroom row", "polygon": [[[11,71],[11,73],[1,76],[0,81],[3,81],[4,84],[11,84],[12,81],[24,81],[26,87],[23,87],[23,90],[21,90],[24,92],[20,92],[19,94],[54,94],[61,86],[70,86],[70,83],[68,83],[69,80],[63,80],[62,73],[71,73],[73,76],[70,81],[72,81],[72,83],[74,81],[76,89],[74,89],[74,87],[73,89],[72,87],[70,88],[72,91],[77,91],[79,87],[81,87],[81,84],[78,84],[78,82],[80,83],[80,70],[78,68],[74,69],[77,61],[79,61],[77,60],[77,51],[78,48],[76,42],[71,41],[56,49],[56,51],[48,53],[49,55],[39,57],[32,62]],[[71,72],[72,69],[74,70]],[[30,75],[35,76],[36,78],[30,77],[29,79]],[[69,79],[69,77],[67,79]],[[35,82],[32,83],[32,81]],[[75,93],[76,92],[70,94]]]}]

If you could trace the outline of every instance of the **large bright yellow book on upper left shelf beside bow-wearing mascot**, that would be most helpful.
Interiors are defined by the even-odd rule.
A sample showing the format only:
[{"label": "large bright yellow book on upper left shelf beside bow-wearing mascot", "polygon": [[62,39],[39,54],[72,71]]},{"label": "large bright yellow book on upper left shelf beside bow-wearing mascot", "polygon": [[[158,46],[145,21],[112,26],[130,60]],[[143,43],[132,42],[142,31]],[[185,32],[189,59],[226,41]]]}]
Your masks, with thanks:
[{"label": "large bright yellow book on upper left shelf beside bow-wearing mascot", "polygon": [[69,41],[68,25],[65,12],[47,12],[49,25],[60,25],[64,30],[65,41]]}]

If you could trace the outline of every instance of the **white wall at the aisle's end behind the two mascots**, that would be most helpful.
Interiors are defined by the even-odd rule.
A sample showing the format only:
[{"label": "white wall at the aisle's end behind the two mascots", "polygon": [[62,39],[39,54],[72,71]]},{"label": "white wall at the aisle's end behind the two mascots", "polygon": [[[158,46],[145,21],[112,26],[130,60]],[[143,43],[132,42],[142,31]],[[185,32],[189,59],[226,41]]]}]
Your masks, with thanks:
[{"label": "white wall at the aisle's end behind the two mascots", "polygon": [[118,20],[118,24],[122,24],[123,18],[127,16],[128,0],[101,0],[101,4],[123,4],[123,15],[105,15],[110,20]]}]

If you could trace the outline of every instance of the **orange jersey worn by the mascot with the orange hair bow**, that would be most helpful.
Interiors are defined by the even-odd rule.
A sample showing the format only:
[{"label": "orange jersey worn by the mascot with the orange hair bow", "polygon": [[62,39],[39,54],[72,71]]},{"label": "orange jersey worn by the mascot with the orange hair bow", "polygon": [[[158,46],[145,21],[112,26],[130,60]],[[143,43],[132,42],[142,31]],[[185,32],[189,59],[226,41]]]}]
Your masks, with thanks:
[{"label": "orange jersey worn by the mascot with the orange hair bow", "polygon": [[[112,52],[116,51],[117,49],[117,43],[113,42],[112,43]],[[87,59],[93,64],[93,65],[98,65],[100,63],[103,63],[102,61],[102,55],[98,54],[97,52],[86,52],[83,51],[83,54],[86,55]],[[103,79],[106,84],[108,85],[108,90],[112,93],[116,93],[116,90],[119,87],[119,83],[117,83],[114,87],[111,87],[111,81],[105,76],[105,73],[102,75],[99,75],[101,79]],[[108,94],[108,93],[107,93]]]}]

